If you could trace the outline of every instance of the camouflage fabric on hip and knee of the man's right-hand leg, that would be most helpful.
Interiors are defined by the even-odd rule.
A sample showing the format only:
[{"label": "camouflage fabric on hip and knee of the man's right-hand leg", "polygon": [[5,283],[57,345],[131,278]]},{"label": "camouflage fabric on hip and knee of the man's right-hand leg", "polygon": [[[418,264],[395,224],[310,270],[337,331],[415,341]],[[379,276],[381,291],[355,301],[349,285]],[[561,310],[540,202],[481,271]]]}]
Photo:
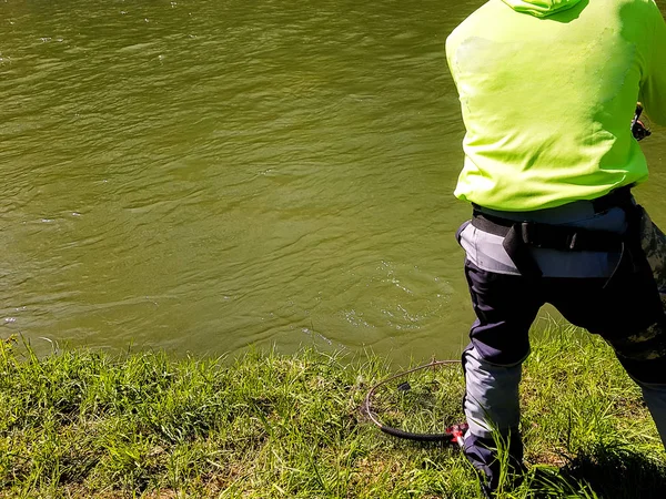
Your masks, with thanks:
[{"label": "camouflage fabric on hip and knee of the man's right-hand leg", "polygon": [[[642,206],[637,208],[640,211],[640,247],[659,292],[662,314],[647,328],[625,338],[607,338],[607,342],[620,359],[622,357],[634,361],[666,359],[666,236]],[[644,285],[653,285],[653,283],[648,278]]]}]

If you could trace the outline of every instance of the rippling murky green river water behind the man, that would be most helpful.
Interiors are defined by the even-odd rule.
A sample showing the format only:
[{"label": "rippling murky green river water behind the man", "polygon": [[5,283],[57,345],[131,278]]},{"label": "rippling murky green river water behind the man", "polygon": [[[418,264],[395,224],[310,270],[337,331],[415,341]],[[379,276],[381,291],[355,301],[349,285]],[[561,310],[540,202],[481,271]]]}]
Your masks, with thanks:
[{"label": "rippling murky green river water behind the man", "polygon": [[481,3],[0,0],[0,336],[457,355],[444,41]]}]

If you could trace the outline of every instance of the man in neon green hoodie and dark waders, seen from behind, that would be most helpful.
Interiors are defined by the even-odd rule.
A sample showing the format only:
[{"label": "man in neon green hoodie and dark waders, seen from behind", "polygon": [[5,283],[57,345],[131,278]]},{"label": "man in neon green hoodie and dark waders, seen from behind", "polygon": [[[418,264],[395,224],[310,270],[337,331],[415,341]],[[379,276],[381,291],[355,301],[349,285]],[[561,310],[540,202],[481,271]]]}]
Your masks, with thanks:
[{"label": "man in neon green hoodie and dark waders, seen from behind", "polygon": [[466,128],[455,195],[474,206],[457,234],[477,316],[463,353],[465,454],[484,490],[500,475],[493,431],[522,466],[521,365],[544,303],[614,347],[666,442],[666,241],[630,194],[647,177],[636,102],[666,124],[657,6],[491,0],[446,57]]}]

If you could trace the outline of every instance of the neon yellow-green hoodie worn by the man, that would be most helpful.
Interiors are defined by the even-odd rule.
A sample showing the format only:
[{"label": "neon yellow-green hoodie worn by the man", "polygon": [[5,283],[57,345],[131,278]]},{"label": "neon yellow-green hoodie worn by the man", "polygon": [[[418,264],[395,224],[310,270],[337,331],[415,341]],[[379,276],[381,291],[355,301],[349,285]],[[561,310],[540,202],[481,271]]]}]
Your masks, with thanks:
[{"label": "neon yellow-green hoodie worn by the man", "polygon": [[531,211],[645,181],[629,124],[638,100],[666,124],[665,53],[654,0],[490,0],[446,40],[466,129],[455,195]]}]

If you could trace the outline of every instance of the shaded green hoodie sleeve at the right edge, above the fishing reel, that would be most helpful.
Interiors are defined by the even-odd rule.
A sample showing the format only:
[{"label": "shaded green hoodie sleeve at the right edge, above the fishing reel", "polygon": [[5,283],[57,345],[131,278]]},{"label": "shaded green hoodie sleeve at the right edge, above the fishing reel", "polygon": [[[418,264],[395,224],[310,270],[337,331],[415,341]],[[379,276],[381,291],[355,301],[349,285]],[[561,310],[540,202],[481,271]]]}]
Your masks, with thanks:
[{"label": "shaded green hoodie sleeve at the right edge, above the fishing reel", "polygon": [[650,62],[640,82],[640,100],[652,121],[666,125],[666,22],[654,1]]}]

